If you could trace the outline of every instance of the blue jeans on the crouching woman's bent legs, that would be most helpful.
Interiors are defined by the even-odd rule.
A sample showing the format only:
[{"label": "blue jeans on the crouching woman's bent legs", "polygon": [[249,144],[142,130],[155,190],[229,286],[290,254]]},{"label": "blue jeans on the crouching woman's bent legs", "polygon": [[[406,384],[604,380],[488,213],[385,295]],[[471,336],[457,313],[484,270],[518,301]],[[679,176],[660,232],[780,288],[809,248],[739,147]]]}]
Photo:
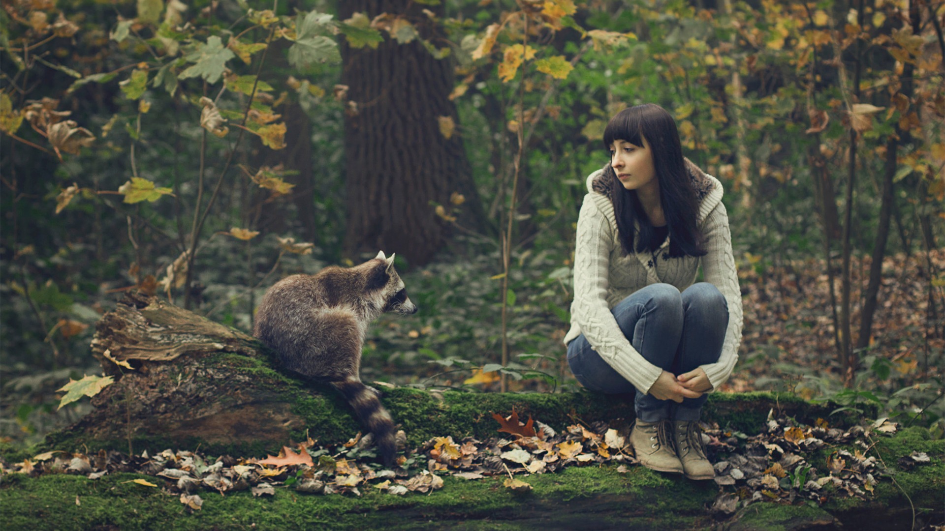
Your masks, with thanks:
[{"label": "blue jeans on the crouching woman's bent legs", "polygon": [[[729,326],[729,303],[711,283],[695,283],[682,293],[671,284],[650,284],[621,300],[610,313],[646,361],[674,375],[718,361]],[[609,394],[635,390],[591,349],[584,334],[568,344],[568,365],[589,390]],[[699,420],[707,398],[675,403],[638,392],[634,410],[645,422]]]}]

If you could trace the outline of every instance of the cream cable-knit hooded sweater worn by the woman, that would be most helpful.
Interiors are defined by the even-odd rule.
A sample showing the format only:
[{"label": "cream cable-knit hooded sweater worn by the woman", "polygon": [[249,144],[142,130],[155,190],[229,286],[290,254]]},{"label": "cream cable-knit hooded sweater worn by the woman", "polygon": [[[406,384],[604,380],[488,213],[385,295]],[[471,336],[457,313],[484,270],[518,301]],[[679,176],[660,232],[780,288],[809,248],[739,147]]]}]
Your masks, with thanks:
[{"label": "cream cable-knit hooded sweater worn by the woman", "polygon": [[704,248],[708,251],[705,256],[670,258],[666,254],[669,238],[656,252],[623,256],[613,204],[601,193],[606,186],[601,186],[601,180],[596,186],[601,191],[595,191],[593,186],[603,170],[588,176],[588,194],[577,218],[575,300],[571,305],[571,330],[564,336],[564,343],[584,334],[610,367],[646,392],[662,369],[646,361],[630,345],[610,313],[611,308],[636,290],[651,283],[669,283],[681,292],[696,280],[696,269],[701,263],[705,282],[713,283],[729,302],[729,327],[719,360],[701,366],[713,390],[728,380],[742,342],[742,294],[731,251],[729,215],[722,204],[722,183],[688,160],[686,166],[702,196],[697,223],[705,237]]}]

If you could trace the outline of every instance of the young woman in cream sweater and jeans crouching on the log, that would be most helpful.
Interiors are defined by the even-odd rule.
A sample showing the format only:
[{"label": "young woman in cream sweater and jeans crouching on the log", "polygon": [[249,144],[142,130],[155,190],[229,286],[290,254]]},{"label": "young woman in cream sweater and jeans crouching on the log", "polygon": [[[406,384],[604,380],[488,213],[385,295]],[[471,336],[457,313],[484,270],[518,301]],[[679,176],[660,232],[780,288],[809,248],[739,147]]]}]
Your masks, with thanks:
[{"label": "young woman in cream sweater and jeans crouching on the log", "polygon": [[742,337],[722,184],[682,156],[658,105],[618,112],[604,145],[577,220],[568,363],[590,390],[636,391],[630,442],[645,467],[712,479],[698,420]]}]

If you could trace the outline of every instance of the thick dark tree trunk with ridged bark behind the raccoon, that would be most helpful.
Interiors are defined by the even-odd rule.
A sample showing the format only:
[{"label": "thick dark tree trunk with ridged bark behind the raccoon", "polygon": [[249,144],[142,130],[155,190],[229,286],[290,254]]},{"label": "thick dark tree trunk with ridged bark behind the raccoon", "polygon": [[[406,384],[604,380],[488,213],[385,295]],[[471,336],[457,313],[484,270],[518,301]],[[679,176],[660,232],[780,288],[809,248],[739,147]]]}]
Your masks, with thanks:
[{"label": "thick dark tree trunk with ridged bark behind the raccoon", "polygon": [[[422,9],[442,12],[441,6],[408,0],[351,0],[338,3],[338,18],[355,12],[369,18],[404,14],[430,40],[437,28]],[[342,42],[341,54],[341,81],[349,87],[346,252],[353,257],[380,249],[402,254],[411,265],[427,264],[449,232],[431,202],[449,209],[457,192],[466,198],[458,222],[478,229],[482,219],[459,118],[449,99],[453,64],[435,59],[418,40],[401,44],[389,36],[376,49]],[[440,132],[441,118],[455,124],[450,138]]]}]

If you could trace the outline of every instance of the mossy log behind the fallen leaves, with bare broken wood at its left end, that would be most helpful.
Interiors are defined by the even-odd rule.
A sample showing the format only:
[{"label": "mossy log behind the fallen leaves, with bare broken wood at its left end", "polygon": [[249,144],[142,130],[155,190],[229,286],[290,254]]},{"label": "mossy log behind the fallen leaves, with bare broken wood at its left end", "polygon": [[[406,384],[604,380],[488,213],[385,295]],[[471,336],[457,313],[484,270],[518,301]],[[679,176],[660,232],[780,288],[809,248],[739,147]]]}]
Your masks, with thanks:
[{"label": "mossy log behind the fallen leaves, with bare broken wood at its left end", "polygon": [[[337,443],[361,431],[333,388],[281,371],[278,358],[253,337],[162,300],[134,295],[120,302],[96,325],[92,347],[116,382],[93,398],[89,415],[49,437],[51,448],[130,446],[140,453],[199,446],[208,453],[263,455],[290,439]],[[384,390],[383,402],[414,446],[447,435],[495,436],[490,413],[513,409],[556,430],[576,419],[633,416],[632,395]],[[790,396],[715,393],[706,417],[757,433],[772,408],[811,421],[830,412]]]}]

